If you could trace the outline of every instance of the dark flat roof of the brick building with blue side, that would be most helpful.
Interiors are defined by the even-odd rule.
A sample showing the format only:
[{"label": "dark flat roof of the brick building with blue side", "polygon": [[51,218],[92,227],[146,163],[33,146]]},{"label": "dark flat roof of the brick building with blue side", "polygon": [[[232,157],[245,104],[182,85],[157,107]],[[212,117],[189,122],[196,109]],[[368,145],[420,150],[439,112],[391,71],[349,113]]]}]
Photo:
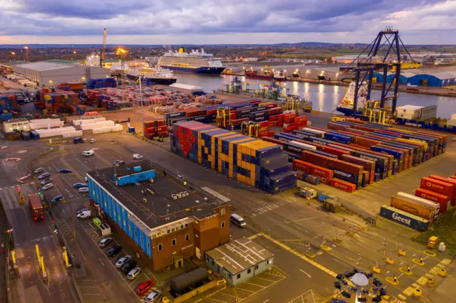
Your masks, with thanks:
[{"label": "dark flat roof of the brick building with blue side", "polygon": [[[129,217],[130,220],[133,220],[146,233],[177,220],[185,218],[201,220],[214,216],[217,214],[214,208],[226,205],[224,202],[212,200],[209,196],[202,196],[195,191],[190,191],[183,187],[180,181],[172,179],[170,174],[165,177],[157,169],[155,169],[153,182],[145,181],[138,186],[131,184],[116,186],[113,181],[114,175],[119,177],[132,174],[133,166],[141,166],[142,171],[155,169],[150,161],[142,160],[118,167],[89,171],[87,174],[127,208],[134,215]],[[153,195],[148,190],[152,191]],[[173,194],[184,191],[187,191],[189,196],[177,198],[177,200],[172,198]],[[146,198],[147,201],[144,202],[143,198]]]}]

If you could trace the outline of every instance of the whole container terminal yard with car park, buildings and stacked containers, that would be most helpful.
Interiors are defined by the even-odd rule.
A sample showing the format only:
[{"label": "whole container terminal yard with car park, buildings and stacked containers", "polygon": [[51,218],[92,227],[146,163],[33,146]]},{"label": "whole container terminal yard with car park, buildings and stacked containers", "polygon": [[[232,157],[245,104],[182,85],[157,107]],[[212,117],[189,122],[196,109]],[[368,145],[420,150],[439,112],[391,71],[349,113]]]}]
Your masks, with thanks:
[{"label": "whole container terminal yard with car park, buildings and stacked containers", "polygon": [[2,79],[9,299],[448,300],[456,118],[360,93],[380,64],[353,66],[344,115],[279,90]]}]

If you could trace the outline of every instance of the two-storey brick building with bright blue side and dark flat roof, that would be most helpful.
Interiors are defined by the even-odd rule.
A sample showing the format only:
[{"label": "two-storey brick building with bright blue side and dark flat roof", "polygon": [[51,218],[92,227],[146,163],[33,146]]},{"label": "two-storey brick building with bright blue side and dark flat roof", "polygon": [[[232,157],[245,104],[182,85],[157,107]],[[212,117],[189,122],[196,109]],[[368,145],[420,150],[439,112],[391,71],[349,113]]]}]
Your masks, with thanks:
[{"label": "two-storey brick building with bright blue side and dark flat roof", "polygon": [[90,198],[111,228],[152,270],[181,267],[184,259],[229,241],[229,206],[192,191],[142,160],[87,173]]}]

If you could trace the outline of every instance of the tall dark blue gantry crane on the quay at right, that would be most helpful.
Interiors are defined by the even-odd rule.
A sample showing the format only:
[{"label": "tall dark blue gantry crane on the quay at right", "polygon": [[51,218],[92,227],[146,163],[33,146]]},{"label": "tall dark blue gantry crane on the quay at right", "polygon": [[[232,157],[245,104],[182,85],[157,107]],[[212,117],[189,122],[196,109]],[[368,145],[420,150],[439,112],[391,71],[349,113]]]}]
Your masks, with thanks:
[{"label": "tall dark blue gantry crane on the quay at right", "polygon": [[[400,39],[398,29],[393,29],[391,26],[388,26],[385,28],[385,30],[378,33],[374,41],[372,41],[371,44],[364,48],[358,57],[356,57],[355,60],[353,60],[350,65],[348,65],[348,68],[341,68],[341,71],[343,72],[351,70],[356,75],[355,93],[353,98],[353,115],[357,115],[356,109],[358,108],[358,93],[363,83],[367,83],[366,99],[371,99],[372,78],[374,71],[378,71],[383,75],[379,108],[380,110],[385,110],[385,101],[392,100],[391,115],[395,114],[396,105],[398,102],[400,65],[402,61],[400,55],[401,46],[413,61],[412,56]],[[384,53],[383,50],[385,50]],[[366,53],[367,51],[368,53]],[[381,54],[379,51],[381,51]],[[395,57],[392,63],[389,63],[388,60],[390,53],[393,53]],[[381,58],[380,62],[375,62],[375,57],[379,55],[383,55],[383,57]],[[415,62],[413,61],[413,63]],[[355,64],[356,66],[354,66]],[[391,69],[395,71],[393,74],[394,78],[391,80],[391,83],[387,85],[386,77],[388,75],[388,70]],[[393,85],[394,87],[392,87]],[[393,95],[388,95],[391,91],[393,91]]]}]

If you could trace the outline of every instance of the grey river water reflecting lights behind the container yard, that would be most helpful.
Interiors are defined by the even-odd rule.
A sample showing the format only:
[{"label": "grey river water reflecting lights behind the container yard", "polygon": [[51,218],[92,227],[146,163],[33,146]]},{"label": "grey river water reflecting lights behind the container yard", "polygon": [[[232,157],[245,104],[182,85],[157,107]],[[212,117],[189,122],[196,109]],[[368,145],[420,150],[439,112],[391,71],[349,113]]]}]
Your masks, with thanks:
[{"label": "grey river water reflecting lights behind the container yard", "polygon": [[[202,87],[205,92],[212,92],[218,88],[222,88],[224,84],[229,84],[234,76],[231,75],[197,75],[190,73],[175,73],[177,83],[197,85]],[[264,80],[246,79],[239,77],[241,81],[248,83],[265,83]],[[302,83],[296,81],[287,81],[281,83],[285,87],[289,87],[294,95],[306,97],[314,105],[314,110],[321,112],[334,112],[339,100],[345,94],[344,87],[336,85],[324,85],[314,83]],[[372,98],[380,99],[380,90],[372,91]],[[440,97],[435,95],[418,95],[407,92],[400,92],[398,98],[398,106],[402,105],[437,105],[437,116],[442,118],[450,118],[451,114],[456,113],[456,97]]]}]

